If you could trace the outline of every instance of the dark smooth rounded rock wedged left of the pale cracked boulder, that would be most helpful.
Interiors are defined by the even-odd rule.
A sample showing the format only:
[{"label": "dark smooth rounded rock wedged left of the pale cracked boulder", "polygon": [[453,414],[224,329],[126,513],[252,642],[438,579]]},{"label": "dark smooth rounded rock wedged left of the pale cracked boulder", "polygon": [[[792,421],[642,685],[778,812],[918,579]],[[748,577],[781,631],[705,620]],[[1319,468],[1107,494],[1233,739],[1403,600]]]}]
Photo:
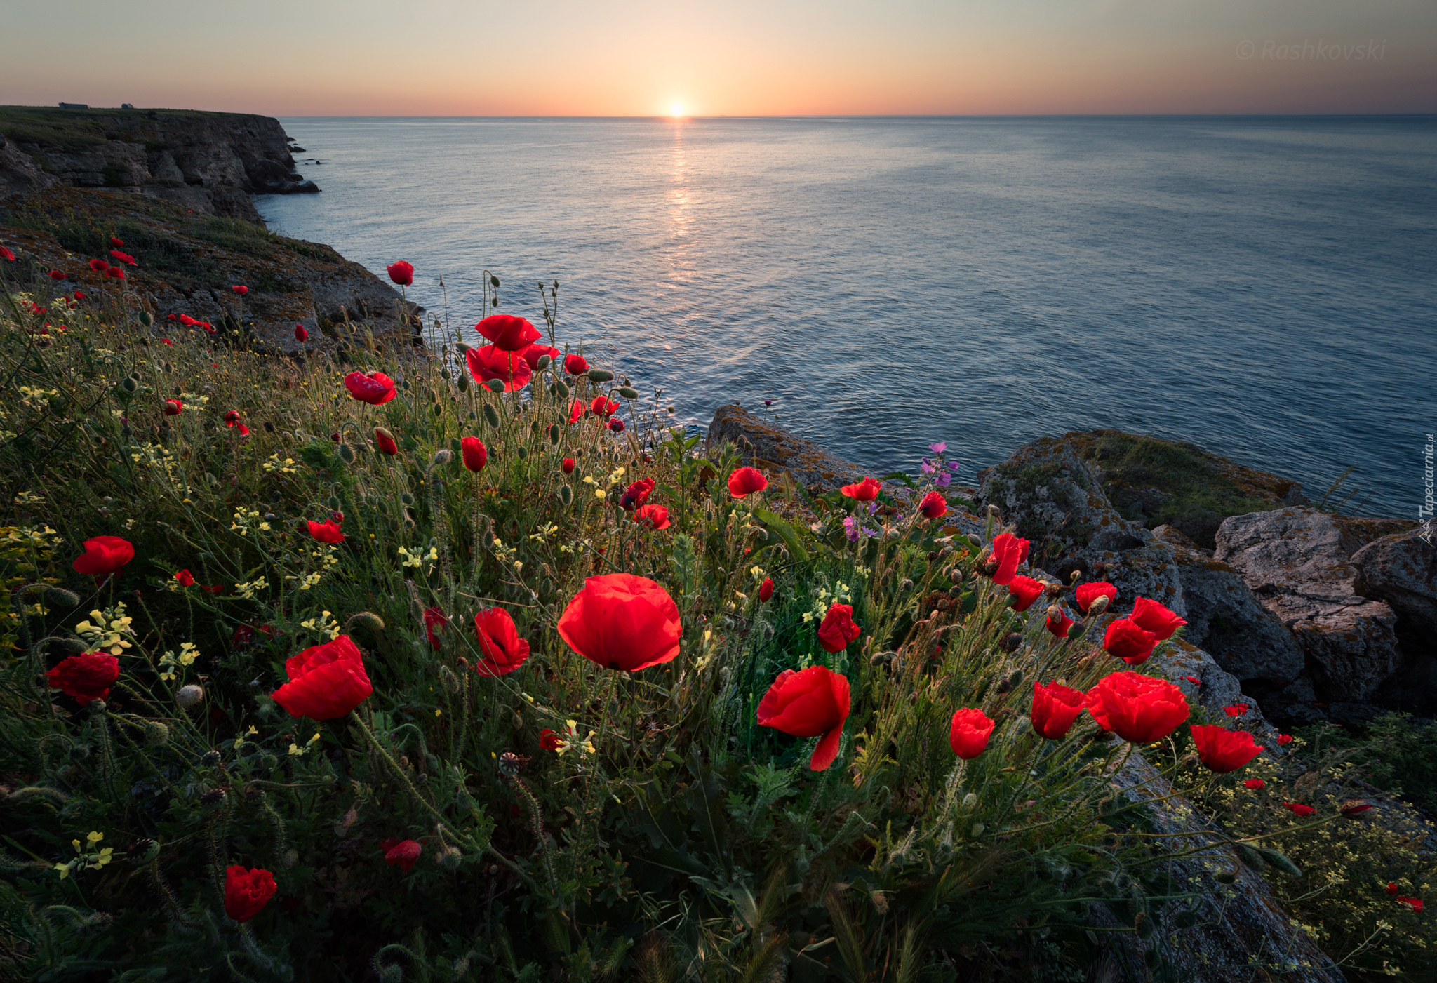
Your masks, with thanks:
[{"label": "dark smooth rounded rock wedged left of the pale cracked boulder", "polygon": [[1219,665],[1247,684],[1283,688],[1302,674],[1302,650],[1272,612],[1257,604],[1237,571],[1171,526],[1158,526],[1152,535],[1173,549],[1183,585],[1187,641],[1207,650]]}]

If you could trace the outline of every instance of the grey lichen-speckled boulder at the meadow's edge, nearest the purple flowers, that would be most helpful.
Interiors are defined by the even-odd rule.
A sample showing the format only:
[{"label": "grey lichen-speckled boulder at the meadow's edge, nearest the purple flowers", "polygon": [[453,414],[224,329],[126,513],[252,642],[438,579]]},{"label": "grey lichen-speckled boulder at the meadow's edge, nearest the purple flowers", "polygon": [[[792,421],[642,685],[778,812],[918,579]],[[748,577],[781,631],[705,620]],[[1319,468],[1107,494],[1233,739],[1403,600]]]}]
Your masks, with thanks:
[{"label": "grey lichen-speckled boulder at the meadow's edge, nearest the purple flowers", "polygon": [[1068,583],[1078,571],[1118,588],[1114,611],[1152,598],[1183,614],[1173,550],[1118,514],[1066,437],[1045,437],[979,473],[979,503],[1032,542],[1029,562]]}]

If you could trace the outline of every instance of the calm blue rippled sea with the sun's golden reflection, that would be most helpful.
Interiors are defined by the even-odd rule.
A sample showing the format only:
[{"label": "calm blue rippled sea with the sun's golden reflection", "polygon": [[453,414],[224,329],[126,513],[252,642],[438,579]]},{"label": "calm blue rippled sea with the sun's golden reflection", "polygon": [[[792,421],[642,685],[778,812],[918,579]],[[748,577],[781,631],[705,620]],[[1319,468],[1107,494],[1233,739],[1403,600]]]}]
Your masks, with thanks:
[{"label": "calm blue rippled sea with the sun's golden reflection", "polygon": [[[285,119],[257,201],[410,297],[606,352],[875,471],[947,440],[1184,438],[1415,516],[1437,430],[1437,118]],[[473,333],[473,332],[471,332]]]}]

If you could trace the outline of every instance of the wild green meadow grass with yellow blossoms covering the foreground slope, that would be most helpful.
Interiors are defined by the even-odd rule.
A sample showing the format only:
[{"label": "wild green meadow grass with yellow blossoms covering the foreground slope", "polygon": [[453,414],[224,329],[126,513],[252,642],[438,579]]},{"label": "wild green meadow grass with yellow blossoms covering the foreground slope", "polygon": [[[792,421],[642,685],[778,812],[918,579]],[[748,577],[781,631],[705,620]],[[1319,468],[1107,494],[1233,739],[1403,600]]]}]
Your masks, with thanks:
[{"label": "wild green meadow grass with yellow blossoms covering the foreground slope", "polygon": [[[137,241],[145,263],[162,247]],[[397,361],[354,325],[331,326],[345,364],[164,345],[141,297],[69,309],[39,272],[0,274],[0,976],[1039,983],[1106,964],[1104,904],[1161,924],[1144,959],[1175,980],[1194,897],[1154,887],[1170,861],[1141,809],[1114,808],[1128,747],[1086,717],[1043,742],[1026,717],[1033,680],[1088,687],[1112,663],[1048,635],[1042,605],[1009,608],[977,539],[864,512],[875,535],[849,540],[855,503],[777,483],[736,500],[731,447],[704,457],[668,428],[671,395],[604,372],[550,365],[499,394],[453,339]],[[351,369],[401,378],[397,398],[349,398]],[[622,431],[569,423],[596,395]],[[667,529],[619,507],[637,479]],[[343,542],[313,540],[333,513]],[[98,535],[135,548],[101,583],[70,565]],[[559,635],[612,572],[673,598],[677,658],[622,673]],[[815,634],[833,604],[862,629],[838,652]],[[530,645],[513,674],[474,670],[491,608]],[[292,717],[270,696],[286,660],[338,634],[374,693]],[[121,663],[103,700],[46,687],[96,647]],[[822,772],[816,737],[756,723],[808,665],[852,696]],[[967,762],[958,707],[997,721]],[[545,732],[572,734],[565,753]],[[395,839],[420,845],[411,869],[387,861]],[[231,864],[277,882],[251,921],[226,914]]]}]

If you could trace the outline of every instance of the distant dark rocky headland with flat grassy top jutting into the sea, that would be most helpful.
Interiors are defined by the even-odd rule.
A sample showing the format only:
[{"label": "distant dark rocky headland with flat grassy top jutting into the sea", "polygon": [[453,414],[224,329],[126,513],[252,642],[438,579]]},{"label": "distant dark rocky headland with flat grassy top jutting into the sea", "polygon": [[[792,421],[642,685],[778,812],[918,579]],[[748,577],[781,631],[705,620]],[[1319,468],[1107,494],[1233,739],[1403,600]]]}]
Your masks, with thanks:
[{"label": "distant dark rocky headland with flat grassy top jutting into the sea", "polygon": [[177,109],[0,108],[0,198],[52,184],[118,188],[260,221],[251,194],[319,191],[277,119]]}]

